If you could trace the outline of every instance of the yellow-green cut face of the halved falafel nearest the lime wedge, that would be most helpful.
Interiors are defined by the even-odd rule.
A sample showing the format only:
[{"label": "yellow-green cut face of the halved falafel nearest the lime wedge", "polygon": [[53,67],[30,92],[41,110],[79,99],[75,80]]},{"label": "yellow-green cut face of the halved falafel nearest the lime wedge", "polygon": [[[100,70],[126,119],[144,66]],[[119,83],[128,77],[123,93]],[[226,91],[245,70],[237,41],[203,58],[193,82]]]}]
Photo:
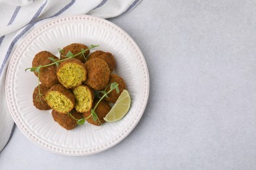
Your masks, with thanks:
[{"label": "yellow-green cut face of the halved falafel nearest the lime wedge", "polygon": [[77,86],[73,93],[75,96],[75,110],[77,112],[88,112],[91,110],[93,97],[85,86]]}]

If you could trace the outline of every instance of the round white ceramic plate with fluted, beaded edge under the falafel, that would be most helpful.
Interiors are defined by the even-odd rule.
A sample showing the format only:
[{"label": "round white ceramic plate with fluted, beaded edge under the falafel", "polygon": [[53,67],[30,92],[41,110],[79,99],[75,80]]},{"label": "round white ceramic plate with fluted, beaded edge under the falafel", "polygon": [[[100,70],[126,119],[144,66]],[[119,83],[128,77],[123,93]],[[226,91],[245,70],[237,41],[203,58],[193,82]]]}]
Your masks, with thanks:
[{"label": "round white ceramic plate with fluted, beaded edge under the falafel", "polygon": [[[103,127],[84,124],[67,131],[54,122],[51,110],[33,107],[37,78],[24,70],[31,67],[37,52],[47,50],[58,54],[58,48],[74,42],[87,46],[99,44],[95,50],[114,54],[115,72],[125,80],[131,95],[131,109],[122,120]],[[20,130],[46,150],[71,156],[95,154],[123,140],[139,122],[148,93],[148,69],[133,39],[111,22],[85,15],[58,18],[34,29],[14,52],[6,78],[7,103]]]}]

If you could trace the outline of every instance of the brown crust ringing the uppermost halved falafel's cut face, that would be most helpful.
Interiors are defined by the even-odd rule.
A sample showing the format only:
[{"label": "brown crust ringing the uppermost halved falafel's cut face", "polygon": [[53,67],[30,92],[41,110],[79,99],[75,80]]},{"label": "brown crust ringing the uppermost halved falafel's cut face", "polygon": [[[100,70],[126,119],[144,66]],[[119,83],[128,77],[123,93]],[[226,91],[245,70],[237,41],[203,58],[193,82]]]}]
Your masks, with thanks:
[{"label": "brown crust ringing the uppermost halved falafel's cut face", "polygon": [[[81,68],[83,68],[84,71],[85,71],[85,75],[83,75],[83,78],[80,78],[80,79],[79,79],[79,80],[81,80],[81,82],[80,82],[79,84],[76,84],[75,86],[68,86],[68,85],[64,84],[64,82],[62,82],[62,80],[61,80],[60,75],[58,74],[58,72],[59,72],[63,67],[65,67],[65,65],[66,65],[67,63],[74,63],[74,64],[77,64],[77,65],[81,66]],[[60,65],[59,65],[58,68],[57,68],[56,76],[57,76],[57,78],[58,78],[58,81],[59,81],[63,86],[65,86],[66,88],[75,88],[76,86],[81,85],[85,80],[87,80],[87,69],[85,68],[85,65],[84,65],[79,59],[70,58],[70,59],[67,59],[67,60],[65,60],[65,61],[62,61],[62,62],[60,63]]]}]

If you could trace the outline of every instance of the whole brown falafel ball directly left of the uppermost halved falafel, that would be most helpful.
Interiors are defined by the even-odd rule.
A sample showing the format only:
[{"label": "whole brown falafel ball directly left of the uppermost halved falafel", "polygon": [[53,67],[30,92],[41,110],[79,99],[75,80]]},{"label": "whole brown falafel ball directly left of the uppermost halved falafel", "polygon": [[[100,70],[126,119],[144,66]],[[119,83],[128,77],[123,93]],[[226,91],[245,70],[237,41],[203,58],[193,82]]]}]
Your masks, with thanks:
[{"label": "whole brown falafel ball directly left of the uppermost halved falafel", "polygon": [[[42,61],[42,65],[47,65],[53,63],[50,59],[45,59]],[[58,78],[56,75],[57,67],[56,65],[50,65],[48,67],[41,67],[39,72],[39,80],[41,84],[51,88],[54,84],[58,84]]]}]

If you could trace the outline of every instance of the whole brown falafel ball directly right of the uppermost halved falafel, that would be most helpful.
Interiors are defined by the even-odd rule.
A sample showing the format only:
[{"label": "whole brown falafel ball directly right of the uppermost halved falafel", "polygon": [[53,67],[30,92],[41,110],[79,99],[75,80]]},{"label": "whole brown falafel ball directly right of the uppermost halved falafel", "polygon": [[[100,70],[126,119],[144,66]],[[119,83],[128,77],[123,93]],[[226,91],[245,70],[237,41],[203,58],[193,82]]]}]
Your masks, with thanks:
[{"label": "whole brown falafel ball directly right of the uppermost halved falafel", "polygon": [[100,58],[90,59],[85,63],[87,80],[85,84],[94,90],[102,90],[108,85],[110,69],[106,61]]}]

